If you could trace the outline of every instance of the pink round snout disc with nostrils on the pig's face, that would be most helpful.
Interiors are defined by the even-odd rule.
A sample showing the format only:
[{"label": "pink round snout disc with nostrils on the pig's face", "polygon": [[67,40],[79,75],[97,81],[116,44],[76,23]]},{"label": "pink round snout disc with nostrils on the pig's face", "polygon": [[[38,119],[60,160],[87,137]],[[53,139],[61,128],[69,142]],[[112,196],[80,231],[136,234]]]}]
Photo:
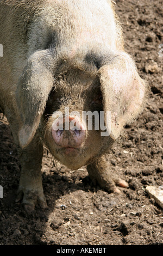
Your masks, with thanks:
[{"label": "pink round snout disc with nostrils on the pig's face", "polygon": [[85,125],[77,116],[58,118],[53,122],[52,136],[61,148],[80,148],[86,136]]}]

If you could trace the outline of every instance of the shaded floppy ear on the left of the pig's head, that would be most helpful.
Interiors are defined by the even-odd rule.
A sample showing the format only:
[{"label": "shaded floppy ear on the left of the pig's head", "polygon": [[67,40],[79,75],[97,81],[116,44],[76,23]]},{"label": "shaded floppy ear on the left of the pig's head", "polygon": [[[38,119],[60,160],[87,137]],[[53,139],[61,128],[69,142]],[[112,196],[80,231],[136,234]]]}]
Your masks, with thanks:
[{"label": "shaded floppy ear on the left of the pig's head", "polygon": [[53,87],[49,70],[51,56],[47,50],[37,51],[27,61],[16,90],[16,102],[22,127],[18,133],[20,146],[26,147],[35,135]]}]

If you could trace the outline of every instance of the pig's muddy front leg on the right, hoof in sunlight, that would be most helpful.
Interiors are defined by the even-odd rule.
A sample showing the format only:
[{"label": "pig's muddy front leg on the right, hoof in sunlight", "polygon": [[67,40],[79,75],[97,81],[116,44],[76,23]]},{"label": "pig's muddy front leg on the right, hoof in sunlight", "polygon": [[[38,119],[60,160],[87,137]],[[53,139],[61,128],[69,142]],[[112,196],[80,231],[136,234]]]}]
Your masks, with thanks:
[{"label": "pig's muddy front leg on the right, hoof in sunlight", "polygon": [[128,187],[126,181],[118,178],[114,174],[111,174],[104,156],[89,164],[87,166],[87,171],[93,181],[93,184],[95,185],[96,182],[98,182],[98,184],[108,192],[121,193],[116,185],[120,187]]}]

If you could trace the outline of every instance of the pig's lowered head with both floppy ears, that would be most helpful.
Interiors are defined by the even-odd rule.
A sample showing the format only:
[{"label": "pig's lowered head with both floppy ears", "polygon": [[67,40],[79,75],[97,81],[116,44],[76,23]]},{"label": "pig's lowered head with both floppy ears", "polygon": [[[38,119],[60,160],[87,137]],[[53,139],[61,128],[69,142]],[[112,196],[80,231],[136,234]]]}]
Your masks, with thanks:
[{"label": "pig's lowered head with both floppy ears", "polygon": [[52,155],[77,169],[106,153],[141,113],[147,92],[127,53],[56,60],[48,50],[38,51],[29,58],[16,93],[20,145],[27,147],[39,128]]}]

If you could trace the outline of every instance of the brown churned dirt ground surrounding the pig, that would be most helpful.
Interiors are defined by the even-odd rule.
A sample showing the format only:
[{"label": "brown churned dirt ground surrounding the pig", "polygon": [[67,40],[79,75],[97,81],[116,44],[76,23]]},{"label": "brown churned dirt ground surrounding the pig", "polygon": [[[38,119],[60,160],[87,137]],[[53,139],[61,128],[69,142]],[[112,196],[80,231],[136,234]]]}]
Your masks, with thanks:
[{"label": "brown churned dirt ground surrounding the pig", "polygon": [[[108,165],[129,183],[121,194],[93,186],[85,167],[69,170],[47,150],[42,180],[48,209],[28,216],[15,203],[20,164],[7,119],[0,115],[1,245],[163,245],[163,212],[145,191],[163,185],[162,0],[117,0],[126,51],[151,94],[139,120],[110,150]],[[163,55],[163,52],[162,52]]]}]

